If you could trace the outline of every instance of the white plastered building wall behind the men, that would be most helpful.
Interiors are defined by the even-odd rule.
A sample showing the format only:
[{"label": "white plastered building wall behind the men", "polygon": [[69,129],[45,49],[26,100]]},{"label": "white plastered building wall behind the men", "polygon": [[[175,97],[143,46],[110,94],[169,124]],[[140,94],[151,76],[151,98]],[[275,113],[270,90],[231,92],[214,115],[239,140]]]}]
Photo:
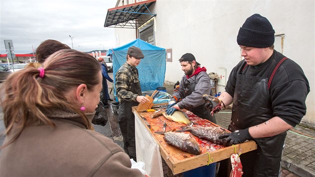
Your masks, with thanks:
[{"label": "white plastered building wall behind the men", "polygon": [[[311,91],[306,99],[307,113],[303,121],[315,124],[313,0],[156,0],[150,10],[157,14],[155,44],[172,49],[172,61],[166,62],[165,73],[165,80],[170,82],[182,77],[178,59],[186,52],[194,54],[207,72],[226,68],[227,80],[231,69],[241,59],[236,42],[239,27],[253,13],[267,17],[275,34],[284,34],[283,54],[298,63],[308,78]],[[116,29],[116,33],[124,43],[135,39],[134,30]],[[217,86],[217,91],[224,91],[224,86]]]}]

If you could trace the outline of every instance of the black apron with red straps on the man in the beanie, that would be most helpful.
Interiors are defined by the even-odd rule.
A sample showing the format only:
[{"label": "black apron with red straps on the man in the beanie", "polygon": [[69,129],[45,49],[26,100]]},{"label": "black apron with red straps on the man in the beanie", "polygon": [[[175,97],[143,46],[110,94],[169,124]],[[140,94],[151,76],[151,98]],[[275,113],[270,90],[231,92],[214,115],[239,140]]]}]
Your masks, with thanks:
[{"label": "black apron with red straps on the man in the beanie", "polygon": [[[268,78],[238,73],[228,130],[254,126],[273,116]],[[257,149],[240,155],[244,172],[242,176],[280,175],[285,136],[286,131],[270,137],[254,138]]]}]

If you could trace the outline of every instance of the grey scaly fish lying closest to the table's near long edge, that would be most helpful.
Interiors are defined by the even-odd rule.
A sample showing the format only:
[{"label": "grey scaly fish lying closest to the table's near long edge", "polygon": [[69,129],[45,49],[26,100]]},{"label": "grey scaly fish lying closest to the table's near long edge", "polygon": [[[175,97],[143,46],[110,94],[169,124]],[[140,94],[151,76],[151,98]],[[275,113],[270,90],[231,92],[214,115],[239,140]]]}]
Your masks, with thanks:
[{"label": "grey scaly fish lying closest to the table's near long edge", "polygon": [[156,131],[155,133],[164,134],[163,138],[166,141],[166,143],[171,144],[179,148],[180,150],[195,155],[199,155],[201,153],[198,142],[188,133],[174,131],[167,132]]}]

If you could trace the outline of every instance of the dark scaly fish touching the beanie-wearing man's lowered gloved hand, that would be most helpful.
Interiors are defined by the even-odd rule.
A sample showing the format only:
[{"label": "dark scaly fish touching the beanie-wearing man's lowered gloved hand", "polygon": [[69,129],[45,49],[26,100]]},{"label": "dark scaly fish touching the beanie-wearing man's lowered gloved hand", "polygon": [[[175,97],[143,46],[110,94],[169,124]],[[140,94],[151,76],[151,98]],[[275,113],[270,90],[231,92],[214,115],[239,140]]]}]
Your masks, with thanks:
[{"label": "dark scaly fish touching the beanie-wearing man's lowered gloved hand", "polygon": [[220,127],[213,126],[182,126],[182,129],[176,130],[176,132],[190,131],[191,134],[200,138],[213,141],[216,144],[223,144],[224,141],[218,137],[225,131]]}]

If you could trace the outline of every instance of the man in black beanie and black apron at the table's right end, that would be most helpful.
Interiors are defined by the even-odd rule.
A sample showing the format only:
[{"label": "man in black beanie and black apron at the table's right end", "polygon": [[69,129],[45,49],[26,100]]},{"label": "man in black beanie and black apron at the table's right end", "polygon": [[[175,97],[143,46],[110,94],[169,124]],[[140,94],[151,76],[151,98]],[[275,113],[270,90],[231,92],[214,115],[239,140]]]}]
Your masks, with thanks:
[{"label": "man in black beanie and black apron at the table's right end", "polygon": [[240,155],[242,176],[279,176],[286,131],[306,113],[307,78],[298,64],[273,49],[273,42],[268,19],[249,16],[237,35],[244,59],[231,70],[219,96],[225,105],[233,102],[232,132],[219,138],[225,145],[257,143],[256,150]]}]

